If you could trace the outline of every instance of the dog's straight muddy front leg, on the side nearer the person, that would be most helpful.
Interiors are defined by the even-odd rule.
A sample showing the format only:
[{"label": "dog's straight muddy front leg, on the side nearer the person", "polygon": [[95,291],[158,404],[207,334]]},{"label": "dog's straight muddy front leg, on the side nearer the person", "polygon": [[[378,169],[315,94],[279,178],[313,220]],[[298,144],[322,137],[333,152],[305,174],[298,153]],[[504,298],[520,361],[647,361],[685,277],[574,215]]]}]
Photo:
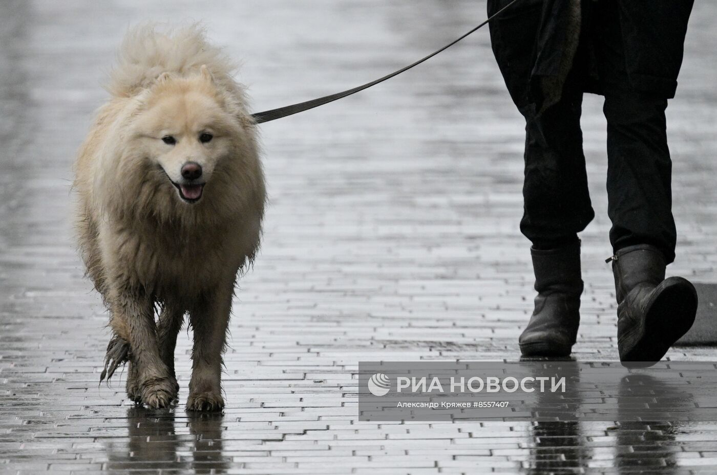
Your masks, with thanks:
[{"label": "dog's straight muddy front leg, on the side nearer the person", "polygon": [[189,312],[194,330],[194,348],[187,411],[219,411],[224,407],[222,353],[232,310],[232,290],[233,283],[228,289],[206,295]]}]

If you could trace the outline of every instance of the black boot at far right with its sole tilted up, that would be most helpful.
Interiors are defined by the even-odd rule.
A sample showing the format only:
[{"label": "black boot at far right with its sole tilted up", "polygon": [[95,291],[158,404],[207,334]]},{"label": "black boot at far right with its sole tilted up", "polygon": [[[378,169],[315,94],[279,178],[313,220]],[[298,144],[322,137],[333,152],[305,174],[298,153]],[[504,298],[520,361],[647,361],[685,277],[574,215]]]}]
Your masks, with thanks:
[{"label": "black boot at far right with its sole tilted up", "polygon": [[609,260],[615,276],[620,361],[652,366],[694,323],[695,287],[681,277],[665,279],[665,255],[651,245],[622,248]]}]

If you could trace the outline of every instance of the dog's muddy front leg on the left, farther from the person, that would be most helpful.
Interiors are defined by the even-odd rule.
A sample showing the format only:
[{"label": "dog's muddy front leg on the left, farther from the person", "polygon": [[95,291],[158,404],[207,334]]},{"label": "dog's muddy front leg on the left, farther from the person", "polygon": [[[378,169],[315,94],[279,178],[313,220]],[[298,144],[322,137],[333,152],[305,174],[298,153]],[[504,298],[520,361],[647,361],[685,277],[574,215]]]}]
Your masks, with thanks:
[{"label": "dog's muddy front leg on the left, farther from the person", "polygon": [[[130,386],[137,393],[130,398],[151,408],[168,406],[176,398],[176,380],[171,378],[161,360],[154,323],[152,300],[143,290],[128,285],[115,285],[110,298],[112,325],[128,340],[131,351]],[[137,397],[139,396],[139,397]]]}]

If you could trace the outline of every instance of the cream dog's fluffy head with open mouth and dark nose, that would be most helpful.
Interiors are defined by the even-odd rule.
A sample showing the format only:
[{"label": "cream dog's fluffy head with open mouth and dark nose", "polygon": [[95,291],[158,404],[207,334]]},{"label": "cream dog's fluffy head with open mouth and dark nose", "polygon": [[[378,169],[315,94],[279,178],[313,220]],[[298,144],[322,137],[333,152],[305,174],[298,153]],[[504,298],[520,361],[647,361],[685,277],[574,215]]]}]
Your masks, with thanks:
[{"label": "cream dog's fluffy head with open mouth and dark nose", "polygon": [[165,217],[186,215],[188,207],[221,215],[263,200],[254,127],[238,94],[219,87],[206,67],[184,77],[161,74],[138,94],[115,170],[128,168],[125,192],[136,196],[126,198]]}]

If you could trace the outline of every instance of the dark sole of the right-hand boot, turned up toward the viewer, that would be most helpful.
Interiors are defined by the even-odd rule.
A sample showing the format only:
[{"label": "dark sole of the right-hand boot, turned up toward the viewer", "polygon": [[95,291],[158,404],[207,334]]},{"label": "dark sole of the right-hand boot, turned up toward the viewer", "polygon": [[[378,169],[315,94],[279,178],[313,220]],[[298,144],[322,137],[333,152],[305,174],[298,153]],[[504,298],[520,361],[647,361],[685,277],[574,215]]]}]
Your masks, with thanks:
[{"label": "dark sole of the right-hand boot, turned up toward the viewer", "polygon": [[660,361],[695,323],[697,291],[681,277],[665,279],[655,288],[655,297],[647,304],[642,329],[638,329],[618,346],[629,348],[620,355],[623,366],[648,368]]}]

